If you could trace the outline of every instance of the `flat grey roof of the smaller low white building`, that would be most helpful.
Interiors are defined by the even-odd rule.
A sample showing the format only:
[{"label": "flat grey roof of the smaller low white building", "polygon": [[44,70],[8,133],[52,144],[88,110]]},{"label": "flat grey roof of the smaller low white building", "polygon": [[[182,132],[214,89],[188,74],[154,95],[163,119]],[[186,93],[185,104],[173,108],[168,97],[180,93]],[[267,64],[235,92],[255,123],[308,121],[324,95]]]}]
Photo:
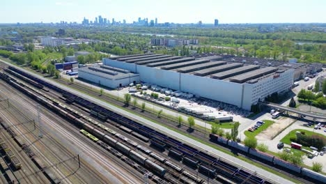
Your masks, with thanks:
[{"label": "flat grey roof of the smaller low white building", "polygon": [[139,74],[135,74],[132,72],[127,72],[127,73],[118,72],[115,70],[101,68],[100,66],[79,68],[79,72],[86,72],[88,74],[96,75],[98,77],[103,77],[103,78],[109,79],[109,80],[117,80],[117,79],[124,79],[124,78],[139,76]]}]

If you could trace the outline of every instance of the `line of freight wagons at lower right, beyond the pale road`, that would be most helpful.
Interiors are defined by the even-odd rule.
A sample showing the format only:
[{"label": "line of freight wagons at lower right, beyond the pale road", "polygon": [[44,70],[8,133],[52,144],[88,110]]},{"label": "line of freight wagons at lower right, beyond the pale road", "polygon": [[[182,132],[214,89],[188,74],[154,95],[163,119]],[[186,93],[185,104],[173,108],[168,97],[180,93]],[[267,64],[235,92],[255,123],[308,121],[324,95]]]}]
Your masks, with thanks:
[{"label": "line of freight wagons at lower right, beyond the pale road", "polygon": [[247,146],[244,146],[243,144],[237,143],[235,141],[231,141],[228,139],[225,139],[224,137],[219,137],[215,134],[210,134],[210,141],[213,141],[215,143],[224,144],[231,146],[235,149],[238,149],[239,151],[243,151],[245,153],[249,153],[249,155],[254,155],[256,158],[259,158],[261,160],[270,162],[276,166],[283,167],[284,169],[288,169],[290,171],[293,171],[297,174],[301,174],[302,176],[312,178],[320,183],[326,183],[326,176],[323,174],[319,174],[315,171],[311,171],[310,169],[306,169],[304,167],[292,164],[290,162],[286,162],[284,160],[281,160],[280,158],[275,157],[274,155],[270,155],[268,153],[263,153],[261,151],[258,151],[253,148],[249,148]]}]

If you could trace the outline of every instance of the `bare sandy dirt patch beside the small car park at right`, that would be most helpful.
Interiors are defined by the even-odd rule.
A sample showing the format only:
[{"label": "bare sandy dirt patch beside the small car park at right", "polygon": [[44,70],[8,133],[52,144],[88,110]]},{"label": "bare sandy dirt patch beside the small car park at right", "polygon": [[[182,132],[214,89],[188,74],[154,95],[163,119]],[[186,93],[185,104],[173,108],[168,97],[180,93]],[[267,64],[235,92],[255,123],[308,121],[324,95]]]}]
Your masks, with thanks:
[{"label": "bare sandy dirt patch beside the small car park at right", "polygon": [[259,133],[256,138],[257,140],[270,140],[274,135],[277,135],[278,132],[286,128],[286,126],[290,125],[290,123],[293,122],[292,118],[286,118],[286,117],[281,117],[277,120],[275,120],[275,123],[270,125],[269,128],[264,130],[263,132]]}]

